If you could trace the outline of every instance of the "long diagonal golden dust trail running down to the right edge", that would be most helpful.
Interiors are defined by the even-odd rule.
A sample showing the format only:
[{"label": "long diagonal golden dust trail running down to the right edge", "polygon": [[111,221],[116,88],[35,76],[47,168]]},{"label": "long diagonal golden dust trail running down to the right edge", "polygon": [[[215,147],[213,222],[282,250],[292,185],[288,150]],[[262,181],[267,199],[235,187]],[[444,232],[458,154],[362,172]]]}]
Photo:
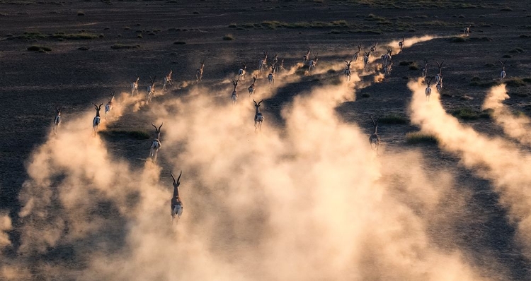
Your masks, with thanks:
[{"label": "long diagonal golden dust trail running down to the right edge", "polygon": [[[531,175],[526,172],[531,165],[531,155],[503,138],[482,136],[473,128],[459,124],[455,117],[446,114],[438,99],[426,102],[421,79],[410,81],[408,87],[413,91],[412,123],[437,136],[441,148],[457,153],[463,165],[493,181],[511,220],[518,222],[517,237],[527,256],[531,257],[531,191],[525,188],[531,182]],[[503,86],[493,88],[491,95],[502,92]],[[489,98],[489,104],[491,99],[493,97]]]}]

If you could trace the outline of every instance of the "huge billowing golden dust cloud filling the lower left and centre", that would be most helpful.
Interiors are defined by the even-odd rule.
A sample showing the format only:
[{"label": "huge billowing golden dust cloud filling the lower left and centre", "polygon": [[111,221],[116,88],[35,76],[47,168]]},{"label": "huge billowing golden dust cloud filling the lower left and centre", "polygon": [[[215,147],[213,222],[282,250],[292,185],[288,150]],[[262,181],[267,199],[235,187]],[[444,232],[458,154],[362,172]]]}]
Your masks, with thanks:
[{"label": "huge billowing golden dust cloud filling the lower left and centre", "polygon": [[[28,160],[21,245],[0,277],[487,280],[467,253],[428,234],[461,208],[438,203],[459,198],[451,174],[426,174],[416,152],[382,145],[377,156],[367,132],[337,116],[359,80],[353,71],[350,83],[300,93],[282,107],[284,124],[266,100],[261,132],[246,95],[232,106],[208,89],[227,96],[212,102],[201,85],[154,99],[149,113],[164,120],[159,160],[183,170],[184,212],[173,225],[168,170],[113,155],[91,137],[93,110],[65,121]],[[66,257],[44,256],[50,249]]]}]

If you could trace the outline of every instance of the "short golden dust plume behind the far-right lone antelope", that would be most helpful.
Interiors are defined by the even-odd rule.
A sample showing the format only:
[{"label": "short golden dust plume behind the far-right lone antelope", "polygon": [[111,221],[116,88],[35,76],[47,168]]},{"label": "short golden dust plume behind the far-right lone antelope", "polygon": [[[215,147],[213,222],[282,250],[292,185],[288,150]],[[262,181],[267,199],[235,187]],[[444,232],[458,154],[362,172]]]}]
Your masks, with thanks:
[{"label": "short golden dust plume behind the far-right lone antelope", "polygon": [[515,115],[503,101],[508,99],[506,84],[498,85],[487,94],[482,109],[492,109],[492,117],[496,124],[502,126],[503,131],[511,138],[515,138],[520,143],[531,144],[531,134],[528,126],[531,120],[524,114]]}]

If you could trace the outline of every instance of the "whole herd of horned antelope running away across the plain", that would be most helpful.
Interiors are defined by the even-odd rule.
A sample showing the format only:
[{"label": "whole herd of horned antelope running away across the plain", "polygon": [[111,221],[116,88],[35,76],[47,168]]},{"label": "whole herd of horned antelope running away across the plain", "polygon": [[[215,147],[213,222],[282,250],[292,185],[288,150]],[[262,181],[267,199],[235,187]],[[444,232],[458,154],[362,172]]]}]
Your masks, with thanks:
[{"label": "whole herd of horned antelope running away across the plain", "polygon": [[[470,32],[470,26],[468,26],[467,28],[464,28],[464,36],[469,36],[469,32]],[[351,76],[350,67],[353,64],[353,62],[356,63],[358,60],[362,59],[362,64],[363,64],[362,69],[363,70],[367,69],[367,66],[370,62],[371,54],[375,54],[375,52],[377,51],[377,44],[378,42],[375,42],[374,44],[370,46],[368,52],[363,51],[363,53],[362,53],[361,44],[358,44],[358,51],[354,52],[352,59],[350,59],[349,61],[345,61],[346,68],[343,71],[343,74],[345,76],[345,80],[348,83],[350,83],[350,76]],[[405,37],[402,37],[402,40],[399,41],[398,48],[401,51],[404,47],[405,47]],[[392,71],[392,65],[393,65],[392,47],[386,47],[386,50],[387,50],[387,53],[380,56],[380,61],[379,61],[379,64],[377,64],[377,68],[376,68],[377,70],[381,70],[383,74],[389,74]],[[362,54],[364,55],[361,58],[360,55]],[[307,73],[312,73],[312,71],[315,71],[318,61],[319,61],[319,55],[315,54],[312,58],[311,50],[308,48],[306,54],[302,56],[302,66],[299,63],[297,64],[299,64],[299,68],[307,68]],[[443,78],[442,65],[444,64],[445,61],[439,62],[435,60],[435,63],[438,66],[438,73],[436,73],[436,75],[433,77],[428,76],[429,61],[427,59],[424,59],[423,62],[424,64],[421,70],[421,77],[424,79],[423,83],[426,83],[426,100],[429,101],[431,91],[432,91],[431,89],[432,83],[435,83],[435,88],[437,92],[442,91],[442,78]],[[506,78],[506,69],[505,69],[506,61],[499,61],[499,62],[501,64],[501,73],[500,73],[499,78],[501,82],[503,83],[503,79]],[[236,79],[232,78],[232,85],[234,89],[232,90],[231,100],[232,100],[233,105],[236,104],[238,100],[237,87],[241,81],[244,81],[246,79],[246,71],[247,71],[246,62],[241,63],[241,66],[242,68],[239,68],[238,71],[236,71],[237,73],[235,77]],[[202,81],[204,67],[205,67],[205,61],[200,61],[200,68],[197,68],[197,70],[195,71],[195,78],[196,78],[197,83],[200,83]],[[258,60],[258,68],[257,68],[258,75],[253,75],[253,83],[248,88],[249,97],[252,98],[253,95],[256,95],[255,93],[256,92],[256,80],[258,79],[258,76],[260,76],[260,74],[263,73],[263,71],[267,71],[268,69],[269,71],[266,77],[268,79],[269,86],[273,87],[275,83],[275,75],[280,73],[281,71],[285,71],[284,58],[283,57],[280,58],[280,62],[279,62],[278,54],[275,54],[273,56],[272,62],[268,66],[268,52],[267,51],[263,52],[262,58]],[[172,73],[173,71],[169,71],[169,74],[164,76],[164,83],[162,86],[163,92],[168,88],[168,85],[173,85],[173,80],[171,78]],[[148,104],[152,100],[152,97],[154,97],[155,95],[156,76],[154,78],[149,76],[149,80],[151,83],[147,85],[146,87],[146,97],[145,97],[146,104]],[[139,94],[138,83],[139,83],[139,77],[137,77],[137,79],[130,84],[131,96],[135,96]],[[115,97],[115,93],[111,92],[110,99],[107,102],[107,104],[105,104],[105,120],[107,119],[107,116],[110,113],[110,111],[113,109],[114,97]],[[264,121],[264,116],[262,112],[260,112],[260,106],[263,100],[256,102],[255,100],[252,99],[252,101],[255,107],[255,114],[254,114],[255,131],[261,131],[262,123]],[[98,133],[98,127],[101,124],[100,109],[103,106],[103,103],[99,105],[93,104],[93,106],[96,108],[96,116],[94,116],[93,122],[92,122],[92,134],[93,136],[96,136],[96,134]],[[62,108],[56,107],[56,112],[57,114],[53,121],[54,125],[52,128],[52,132],[54,134],[57,134],[57,129],[59,127],[59,124],[61,124],[61,121],[62,121],[61,119]],[[376,153],[378,154],[378,147],[380,143],[380,138],[377,133],[379,116],[377,117],[376,120],[372,116],[370,116],[370,119],[372,121],[374,132],[369,137],[369,143],[370,143],[372,150],[375,150]],[[154,126],[155,128],[155,136],[156,136],[152,140],[152,144],[149,150],[149,158],[152,161],[156,161],[159,150],[161,149],[161,127],[163,124],[157,127],[152,123],[152,126]],[[170,171],[170,174],[171,174],[171,178],[173,179],[173,196],[171,198],[171,217],[173,221],[176,215],[178,217],[181,217],[181,214],[183,213],[183,203],[179,196],[179,189],[178,189],[178,187],[180,186],[182,171],[181,171],[181,174],[179,174],[178,179],[175,179],[175,177],[173,177],[173,172]]]}]

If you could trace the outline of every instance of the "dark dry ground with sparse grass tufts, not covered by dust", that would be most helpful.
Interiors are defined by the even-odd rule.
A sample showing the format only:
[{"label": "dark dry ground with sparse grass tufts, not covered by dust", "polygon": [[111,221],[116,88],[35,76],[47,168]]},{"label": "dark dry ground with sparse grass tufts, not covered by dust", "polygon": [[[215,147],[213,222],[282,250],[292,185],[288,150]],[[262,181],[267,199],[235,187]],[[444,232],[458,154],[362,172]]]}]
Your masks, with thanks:
[{"label": "dark dry ground with sparse grass tufts, not covered by dust", "polygon": [[[301,61],[311,47],[312,52],[320,54],[319,63],[326,66],[327,62],[351,58],[357,44],[366,49],[375,41],[384,44],[402,36],[431,35],[438,38],[414,44],[394,56],[392,73],[381,83],[358,90],[355,102],[345,102],[336,109],[338,116],[359,124],[367,137],[372,130],[370,114],[407,118],[411,92],[406,83],[409,78],[420,76],[423,59],[430,61],[432,76],[436,71],[434,60],[445,61],[447,95],[442,96],[445,109],[448,112],[472,109],[477,113],[488,90],[481,84],[498,77],[501,71],[498,60],[507,60],[508,78],[531,76],[531,11],[525,1],[498,2],[1,0],[0,210],[8,212],[13,225],[8,231],[12,246],[4,249],[4,256],[16,259],[23,224],[18,219],[22,207],[18,193],[28,179],[25,165],[33,150],[47,138],[56,106],[63,108],[64,120],[72,119],[92,110],[93,102],[106,102],[113,90],[128,92],[137,76],[142,95],[149,76],[160,81],[170,69],[176,83],[169,94],[154,97],[153,103],[185,96],[193,87],[195,69],[202,60],[206,61],[204,85],[227,92],[224,97],[213,95],[213,102],[229,102],[230,90],[218,83],[234,73],[242,61],[249,64],[249,72],[256,69],[263,50],[284,56],[288,68]],[[470,36],[456,39],[469,24]],[[89,38],[76,38],[82,32]],[[74,38],[65,38],[66,35]],[[224,40],[227,35],[234,40]],[[111,48],[115,44],[132,48]],[[51,50],[28,51],[32,45]],[[402,61],[415,61],[418,68],[399,65]],[[264,102],[263,112],[267,112],[268,121],[282,126],[280,110],[292,102],[292,97],[333,76],[342,78],[342,73],[324,71],[278,88]],[[368,75],[362,80],[372,82],[372,77]],[[479,86],[473,84],[473,78]],[[506,104],[529,114],[530,85],[528,82],[518,87],[509,85],[511,98]],[[243,97],[246,87],[241,88]],[[106,130],[143,131],[151,135],[150,121],[156,116],[145,108],[139,112],[144,112],[144,117],[139,118],[137,112],[125,112]],[[462,122],[481,133],[502,133],[488,118]],[[460,166],[458,157],[437,145],[406,144],[405,134],[410,131],[418,128],[409,122],[380,124],[382,146],[389,152],[421,150],[430,160],[428,169],[452,171],[472,194],[463,212],[454,214],[453,225],[435,230],[451,232],[452,241],[433,234],[435,244],[442,245],[441,248],[447,243],[455,244],[466,251],[472,263],[479,265],[493,258],[506,270],[504,280],[531,280],[531,262],[515,244],[515,222],[508,219],[506,210],[498,203],[491,183]],[[129,160],[134,167],[144,165],[147,140],[116,134],[103,137],[113,154]],[[161,161],[163,167],[169,167],[169,163]],[[61,262],[64,256],[69,257],[68,251],[51,248],[35,255],[35,259]],[[38,278],[38,272],[33,273]]]}]

